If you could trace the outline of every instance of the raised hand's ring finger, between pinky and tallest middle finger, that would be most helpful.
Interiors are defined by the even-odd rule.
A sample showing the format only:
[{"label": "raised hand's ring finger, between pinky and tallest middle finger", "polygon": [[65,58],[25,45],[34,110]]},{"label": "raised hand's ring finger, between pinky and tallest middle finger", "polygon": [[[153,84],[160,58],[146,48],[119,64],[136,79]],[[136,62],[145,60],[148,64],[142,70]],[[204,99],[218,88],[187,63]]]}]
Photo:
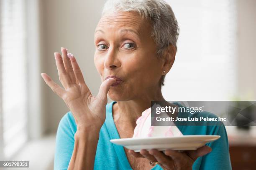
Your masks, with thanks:
[{"label": "raised hand's ring finger, between pinky and tallest middle finger", "polygon": [[61,84],[63,85],[63,87],[66,89],[70,87],[70,83],[71,83],[69,79],[69,75],[67,74],[67,71],[64,67],[60,53],[54,52],[54,56],[55,56],[56,66],[59,73],[59,80],[61,81]]}]

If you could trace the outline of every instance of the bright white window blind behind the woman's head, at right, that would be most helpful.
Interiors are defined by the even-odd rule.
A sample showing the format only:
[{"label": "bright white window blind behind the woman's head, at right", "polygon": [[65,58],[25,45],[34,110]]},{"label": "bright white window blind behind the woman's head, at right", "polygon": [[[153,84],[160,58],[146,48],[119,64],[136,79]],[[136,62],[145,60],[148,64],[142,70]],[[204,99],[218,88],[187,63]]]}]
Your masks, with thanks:
[{"label": "bright white window blind behind the woman's head, at right", "polygon": [[236,3],[167,0],[180,27],[166,100],[230,100],[236,94]]}]

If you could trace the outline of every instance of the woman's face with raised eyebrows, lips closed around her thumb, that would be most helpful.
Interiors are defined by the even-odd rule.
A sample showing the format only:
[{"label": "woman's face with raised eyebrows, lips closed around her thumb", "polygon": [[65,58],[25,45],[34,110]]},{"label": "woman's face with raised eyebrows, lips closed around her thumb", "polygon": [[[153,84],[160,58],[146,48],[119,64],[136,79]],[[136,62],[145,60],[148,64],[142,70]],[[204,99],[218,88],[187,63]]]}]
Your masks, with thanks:
[{"label": "woman's face with raised eyebrows, lips closed around her thumb", "polygon": [[95,29],[95,47],[94,62],[101,80],[108,76],[122,80],[110,87],[112,100],[146,97],[160,88],[163,63],[155,55],[150,23],[137,13],[103,15]]}]

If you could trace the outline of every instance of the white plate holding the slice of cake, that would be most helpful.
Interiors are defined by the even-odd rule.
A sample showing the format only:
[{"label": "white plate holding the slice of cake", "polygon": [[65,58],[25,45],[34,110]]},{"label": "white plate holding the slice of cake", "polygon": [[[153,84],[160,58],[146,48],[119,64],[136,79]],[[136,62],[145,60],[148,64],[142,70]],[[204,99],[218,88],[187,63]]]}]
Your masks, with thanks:
[{"label": "white plate holding the slice of cake", "polygon": [[219,135],[184,135],[178,137],[122,138],[110,142],[139,152],[141,149],[197,150],[206,143],[220,138]]}]

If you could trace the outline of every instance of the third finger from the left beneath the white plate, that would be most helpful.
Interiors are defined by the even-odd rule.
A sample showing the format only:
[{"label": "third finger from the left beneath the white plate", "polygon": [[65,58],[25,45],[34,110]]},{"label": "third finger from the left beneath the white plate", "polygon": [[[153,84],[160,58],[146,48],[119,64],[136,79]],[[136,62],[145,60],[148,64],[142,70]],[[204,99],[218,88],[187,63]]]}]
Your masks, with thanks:
[{"label": "third finger from the left beneath the white plate", "polygon": [[153,155],[156,158],[157,162],[163,165],[164,167],[171,167],[173,160],[170,157],[164,155],[164,153],[156,149],[151,149],[149,150],[148,153],[150,155]]}]

